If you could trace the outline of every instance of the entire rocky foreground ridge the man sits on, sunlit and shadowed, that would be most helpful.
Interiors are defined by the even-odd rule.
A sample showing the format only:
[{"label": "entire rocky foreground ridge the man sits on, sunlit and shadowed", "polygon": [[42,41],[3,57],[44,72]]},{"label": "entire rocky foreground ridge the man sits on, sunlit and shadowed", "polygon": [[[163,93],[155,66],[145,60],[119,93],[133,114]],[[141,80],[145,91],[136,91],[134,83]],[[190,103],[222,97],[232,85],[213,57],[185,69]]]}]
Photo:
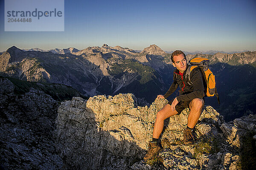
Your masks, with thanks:
[{"label": "entire rocky foreground ridge the man sits on, sunlit and shadowed", "polygon": [[256,117],[224,122],[205,106],[195,126],[197,142],[183,145],[189,109],[165,120],[162,150],[143,161],[157,111],[157,99],[138,106],[134,94],[98,95],[57,102],[43,91],[14,94],[0,79],[0,166],[52,170],[242,170],[256,167]]}]

